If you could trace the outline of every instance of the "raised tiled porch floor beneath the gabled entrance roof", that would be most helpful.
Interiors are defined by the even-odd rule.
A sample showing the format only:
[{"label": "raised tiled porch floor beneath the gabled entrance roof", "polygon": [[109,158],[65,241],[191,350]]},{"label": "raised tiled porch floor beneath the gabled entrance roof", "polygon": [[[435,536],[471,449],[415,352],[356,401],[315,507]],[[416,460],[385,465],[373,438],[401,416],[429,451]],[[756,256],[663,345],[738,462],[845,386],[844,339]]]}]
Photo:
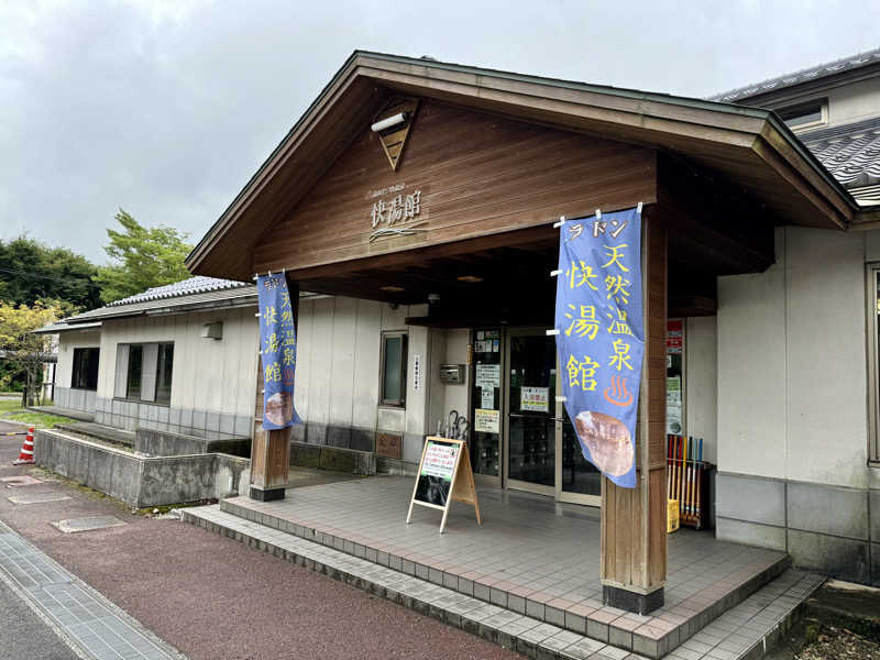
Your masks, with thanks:
[{"label": "raised tiled porch floor beneath the gabled entrance roof", "polygon": [[454,504],[406,513],[413,480],[383,476],[248,497],[220,508],[389,569],[650,657],[692,638],[790,564],[781,552],[682,529],[669,537],[666,605],[638,616],[602,604],[598,510],[509,491],[480,492],[483,525]]}]

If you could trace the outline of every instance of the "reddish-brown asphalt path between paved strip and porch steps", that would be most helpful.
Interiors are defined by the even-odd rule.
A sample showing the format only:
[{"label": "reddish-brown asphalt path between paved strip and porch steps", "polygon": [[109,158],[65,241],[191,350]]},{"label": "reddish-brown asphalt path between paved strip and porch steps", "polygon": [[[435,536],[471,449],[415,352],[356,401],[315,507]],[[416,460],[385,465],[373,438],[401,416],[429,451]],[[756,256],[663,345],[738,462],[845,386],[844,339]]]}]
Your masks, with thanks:
[{"label": "reddish-brown asphalt path between paved strip and porch steps", "polygon": [[[41,476],[9,464],[20,448],[21,437],[0,436],[0,476]],[[59,491],[72,499],[8,499]],[[127,525],[74,535],[51,526],[102,515]],[[193,660],[520,658],[232,539],[131,515],[68,485],[0,488],[0,519]]]}]

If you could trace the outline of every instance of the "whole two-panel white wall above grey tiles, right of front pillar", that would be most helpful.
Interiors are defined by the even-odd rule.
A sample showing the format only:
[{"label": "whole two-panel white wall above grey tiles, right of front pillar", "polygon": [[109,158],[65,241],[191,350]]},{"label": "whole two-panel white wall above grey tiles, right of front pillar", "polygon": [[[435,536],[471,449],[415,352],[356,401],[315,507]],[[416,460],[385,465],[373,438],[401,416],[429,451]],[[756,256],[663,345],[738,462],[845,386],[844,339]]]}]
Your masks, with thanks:
[{"label": "whole two-panel white wall above grey tiles, right of front pillar", "polygon": [[865,232],[777,230],[718,278],[718,469],[868,487]]}]

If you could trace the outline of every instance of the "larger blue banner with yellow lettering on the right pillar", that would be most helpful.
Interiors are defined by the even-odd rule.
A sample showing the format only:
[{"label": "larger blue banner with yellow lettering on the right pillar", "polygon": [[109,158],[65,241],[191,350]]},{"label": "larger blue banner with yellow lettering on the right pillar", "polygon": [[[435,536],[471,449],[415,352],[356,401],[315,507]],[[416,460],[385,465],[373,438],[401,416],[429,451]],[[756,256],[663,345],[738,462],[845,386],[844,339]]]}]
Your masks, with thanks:
[{"label": "larger blue banner with yellow lettering on the right pillar", "polygon": [[636,420],[645,323],[641,212],[569,220],[560,229],[557,350],[581,451],[618,486],[636,487]]}]

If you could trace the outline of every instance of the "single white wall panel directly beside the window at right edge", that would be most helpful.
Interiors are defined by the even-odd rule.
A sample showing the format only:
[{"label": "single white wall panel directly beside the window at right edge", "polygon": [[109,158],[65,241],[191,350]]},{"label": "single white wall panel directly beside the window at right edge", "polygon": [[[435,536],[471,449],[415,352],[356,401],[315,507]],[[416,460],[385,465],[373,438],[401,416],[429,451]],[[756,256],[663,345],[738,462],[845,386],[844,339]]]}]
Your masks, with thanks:
[{"label": "single white wall panel directly beside the window at right edge", "polygon": [[787,476],[867,487],[862,237],[788,228]]}]

